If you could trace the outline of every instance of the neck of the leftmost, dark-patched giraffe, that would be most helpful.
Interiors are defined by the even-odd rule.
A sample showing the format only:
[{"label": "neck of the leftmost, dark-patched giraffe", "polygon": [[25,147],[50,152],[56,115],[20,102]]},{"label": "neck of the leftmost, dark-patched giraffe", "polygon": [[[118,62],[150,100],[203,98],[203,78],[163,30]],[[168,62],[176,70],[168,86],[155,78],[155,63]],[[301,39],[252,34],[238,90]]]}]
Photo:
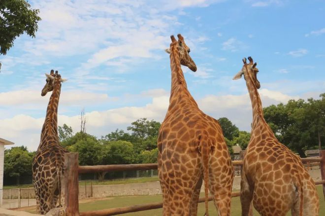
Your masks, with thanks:
[{"label": "neck of the leftmost, dark-patched giraffe", "polygon": [[[55,79],[52,95],[50,97],[49,104],[46,110],[46,117],[41,133],[41,143],[42,140],[46,139],[47,136],[58,137],[58,106],[61,93],[61,81]],[[40,148],[39,146],[38,148]]]}]

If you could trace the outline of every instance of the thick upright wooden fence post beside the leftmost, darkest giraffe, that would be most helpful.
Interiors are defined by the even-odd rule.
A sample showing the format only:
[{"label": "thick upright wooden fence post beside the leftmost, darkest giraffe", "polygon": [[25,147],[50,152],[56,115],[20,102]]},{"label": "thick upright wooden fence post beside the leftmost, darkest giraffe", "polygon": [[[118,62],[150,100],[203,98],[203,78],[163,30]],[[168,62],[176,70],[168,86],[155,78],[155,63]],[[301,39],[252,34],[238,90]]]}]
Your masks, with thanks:
[{"label": "thick upright wooden fence post beside the leftmost, darkest giraffe", "polygon": [[79,216],[79,172],[78,153],[65,153],[63,175],[64,207],[66,216]]}]

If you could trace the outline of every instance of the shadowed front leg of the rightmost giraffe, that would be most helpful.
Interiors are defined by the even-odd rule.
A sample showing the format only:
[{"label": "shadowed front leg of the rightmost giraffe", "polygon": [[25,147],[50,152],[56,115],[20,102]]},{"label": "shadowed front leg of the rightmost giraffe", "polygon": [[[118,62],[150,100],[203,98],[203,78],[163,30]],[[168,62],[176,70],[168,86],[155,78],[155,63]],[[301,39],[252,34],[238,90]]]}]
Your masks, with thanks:
[{"label": "shadowed front leg of the rightmost giraffe", "polygon": [[241,203],[241,215],[242,216],[253,216],[253,192],[254,187],[252,187],[244,173],[241,173],[240,182],[240,203]]}]

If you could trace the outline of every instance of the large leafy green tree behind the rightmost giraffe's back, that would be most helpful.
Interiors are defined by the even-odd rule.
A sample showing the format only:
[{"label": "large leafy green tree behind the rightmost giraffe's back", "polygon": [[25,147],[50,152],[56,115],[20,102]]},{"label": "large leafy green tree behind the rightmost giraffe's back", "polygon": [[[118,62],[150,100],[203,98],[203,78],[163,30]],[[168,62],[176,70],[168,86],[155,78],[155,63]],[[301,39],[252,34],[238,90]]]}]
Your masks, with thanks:
[{"label": "large leafy green tree behind the rightmost giraffe's back", "polygon": [[300,157],[306,157],[307,149],[317,148],[325,135],[325,95],[321,100],[307,102],[290,100],[286,105],[264,108],[264,118],[279,141]]}]

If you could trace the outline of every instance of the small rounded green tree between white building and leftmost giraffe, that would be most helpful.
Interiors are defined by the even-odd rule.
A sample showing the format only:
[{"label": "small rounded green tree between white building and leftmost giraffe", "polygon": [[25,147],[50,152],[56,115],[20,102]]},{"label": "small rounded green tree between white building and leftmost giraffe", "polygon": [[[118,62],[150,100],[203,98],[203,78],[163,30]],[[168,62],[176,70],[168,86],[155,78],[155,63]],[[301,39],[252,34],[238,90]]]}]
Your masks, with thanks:
[{"label": "small rounded green tree between white building and leftmost giraffe", "polygon": [[27,147],[12,147],[4,150],[4,175],[19,178],[24,175],[32,175],[33,154],[27,151]]}]

